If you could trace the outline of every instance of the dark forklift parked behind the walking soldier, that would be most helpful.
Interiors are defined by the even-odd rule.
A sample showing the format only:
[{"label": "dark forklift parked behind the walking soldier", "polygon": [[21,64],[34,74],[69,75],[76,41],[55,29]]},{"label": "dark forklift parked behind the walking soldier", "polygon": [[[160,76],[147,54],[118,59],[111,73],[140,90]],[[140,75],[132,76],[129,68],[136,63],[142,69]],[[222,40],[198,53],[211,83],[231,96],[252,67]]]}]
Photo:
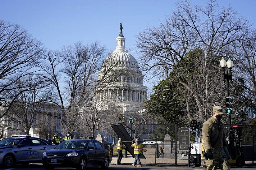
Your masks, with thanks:
[{"label": "dark forklift parked behind the walking soldier", "polygon": [[[227,133],[227,144],[229,147],[230,159],[228,160],[231,166],[242,167],[245,165],[245,155],[242,151],[242,126],[232,125],[226,127]],[[201,165],[205,166],[207,160],[205,160],[205,151],[203,149],[203,142],[201,145]]]}]

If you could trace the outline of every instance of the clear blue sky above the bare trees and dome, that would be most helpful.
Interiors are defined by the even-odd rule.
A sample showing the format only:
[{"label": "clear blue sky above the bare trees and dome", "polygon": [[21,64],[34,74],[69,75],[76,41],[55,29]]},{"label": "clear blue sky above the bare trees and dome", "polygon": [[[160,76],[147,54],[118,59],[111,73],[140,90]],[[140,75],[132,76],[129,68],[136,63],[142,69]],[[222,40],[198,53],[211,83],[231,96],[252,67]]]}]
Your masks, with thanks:
[{"label": "clear blue sky above the bare trees and dome", "polygon": [[[48,49],[61,49],[76,41],[99,40],[116,47],[122,22],[126,48],[133,48],[135,35],[148,25],[158,26],[176,10],[176,0],[0,0],[0,20],[17,23]],[[205,6],[208,1],[192,1]],[[255,0],[217,0],[219,6],[235,8],[256,24]],[[137,58],[136,55],[134,55]]]}]

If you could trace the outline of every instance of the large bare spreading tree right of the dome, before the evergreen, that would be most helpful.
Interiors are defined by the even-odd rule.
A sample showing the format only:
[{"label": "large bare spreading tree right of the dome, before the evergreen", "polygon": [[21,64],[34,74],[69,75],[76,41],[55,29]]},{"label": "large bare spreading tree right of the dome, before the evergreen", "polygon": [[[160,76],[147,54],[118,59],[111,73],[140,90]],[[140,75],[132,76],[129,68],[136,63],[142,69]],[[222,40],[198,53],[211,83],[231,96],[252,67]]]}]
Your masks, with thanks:
[{"label": "large bare spreading tree right of the dome, before the evergreen", "polygon": [[224,98],[218,62],[231,55],[232,43],[248,34],[249,21],[237,17],[230,6],[219,8],[215,1],[204,8],[191,7],[189,1],[176,6],[165,23],[136,36],[135,51],[140,53],[146,73],[160,77],[167,71],[168,75],[174,73],[173,81],[182,85],[184,94],[193,96],[197,106],[189,109],[190,116],[206,120],[212,106],[220,105]]}]

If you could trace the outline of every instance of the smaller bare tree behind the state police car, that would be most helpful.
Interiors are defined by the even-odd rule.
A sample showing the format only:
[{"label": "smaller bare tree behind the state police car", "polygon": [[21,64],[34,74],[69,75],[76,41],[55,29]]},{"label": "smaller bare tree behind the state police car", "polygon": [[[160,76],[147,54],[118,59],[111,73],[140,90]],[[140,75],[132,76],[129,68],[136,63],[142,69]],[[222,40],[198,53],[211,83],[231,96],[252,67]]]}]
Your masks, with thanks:
[{"label": "smaller bare tree behind the state police car", "polygon": [[[43,102],[51,97],[48,86],[45,79],[33,76],[24,76],[11,86],[10,95],[17,97],[6,114],[8,130],[29,134],[30,128],[38,125],[45,107]],[[27,87],[30,90],[24,90]]]}]

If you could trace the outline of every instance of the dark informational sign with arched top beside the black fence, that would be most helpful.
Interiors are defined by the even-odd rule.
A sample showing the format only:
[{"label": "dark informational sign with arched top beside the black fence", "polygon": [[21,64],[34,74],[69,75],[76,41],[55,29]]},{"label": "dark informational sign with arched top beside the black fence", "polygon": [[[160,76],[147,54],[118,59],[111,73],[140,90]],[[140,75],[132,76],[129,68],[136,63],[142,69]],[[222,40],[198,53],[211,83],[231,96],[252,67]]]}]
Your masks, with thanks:
[{"label": "dark informational sign with arched top beside the black fence", "polygon": [[187,127],[179,128],[179,151],[188,151],[190,145],[190,130]]}]

